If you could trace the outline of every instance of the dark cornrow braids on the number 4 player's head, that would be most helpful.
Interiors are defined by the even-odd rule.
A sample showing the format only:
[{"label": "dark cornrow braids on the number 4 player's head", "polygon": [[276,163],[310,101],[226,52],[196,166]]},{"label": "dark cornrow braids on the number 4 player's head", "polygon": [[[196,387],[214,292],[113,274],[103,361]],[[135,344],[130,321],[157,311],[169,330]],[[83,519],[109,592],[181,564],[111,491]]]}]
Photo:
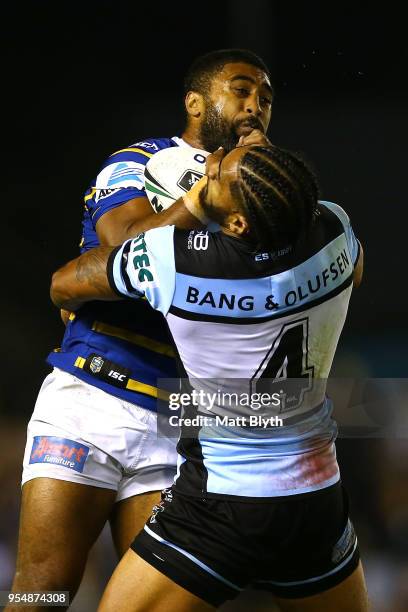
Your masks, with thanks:
[{"label": "dark cornrow braids on the number 4 player's head", "polygon": [[317,179],[294,153],[252,147],[239,164],[240,188],[256,249],[296,245],[313,222]]}]

